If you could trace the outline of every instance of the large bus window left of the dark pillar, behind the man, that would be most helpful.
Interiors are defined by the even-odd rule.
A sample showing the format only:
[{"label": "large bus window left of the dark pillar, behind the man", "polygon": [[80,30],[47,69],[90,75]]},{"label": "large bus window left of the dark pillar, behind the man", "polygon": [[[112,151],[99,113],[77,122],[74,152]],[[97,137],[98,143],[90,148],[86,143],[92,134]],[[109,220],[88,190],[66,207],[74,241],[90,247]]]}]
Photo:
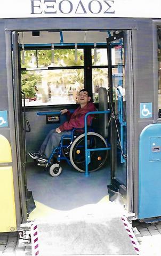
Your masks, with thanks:
[{"label": "large bus window left of the dark pillar, behind the man", "polygon": [[83,55],[78,49],[76,61],[74,49],[56,49],[52,62],[51,50],[25,51],[21,81],[26,106],[76,103],[77,92],[84,88]]}]

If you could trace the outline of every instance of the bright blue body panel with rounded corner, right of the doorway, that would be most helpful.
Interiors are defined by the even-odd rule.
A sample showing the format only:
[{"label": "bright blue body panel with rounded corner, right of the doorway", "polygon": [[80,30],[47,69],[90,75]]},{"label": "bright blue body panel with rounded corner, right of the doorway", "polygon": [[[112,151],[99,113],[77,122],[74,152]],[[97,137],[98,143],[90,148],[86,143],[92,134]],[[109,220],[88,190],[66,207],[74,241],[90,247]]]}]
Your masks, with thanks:
[{"label": "bright blue body panel with rounded corner, right of the doorway", "polygon": [[139,219],[160,216],[161,124],[151,124],[140,134]]}]

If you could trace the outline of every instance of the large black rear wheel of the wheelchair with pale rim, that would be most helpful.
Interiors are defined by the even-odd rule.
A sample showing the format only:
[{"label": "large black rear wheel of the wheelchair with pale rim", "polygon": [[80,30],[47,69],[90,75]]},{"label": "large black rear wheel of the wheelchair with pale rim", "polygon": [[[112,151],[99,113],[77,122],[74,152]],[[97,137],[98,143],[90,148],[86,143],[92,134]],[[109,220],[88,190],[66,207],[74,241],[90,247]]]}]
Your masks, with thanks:
[{"label": "large black rear wheel of the wheelchair with pale rim", "polygon": [[[79,135],[70,148],[69,157],[71,164],[79,172],[85,172],[85,134]],[[88,148],[106,148],[104,138],[95,132],[87,133]],[[99,170],[106,162],[108,150],[91,151],[91,162],[88,164],[88,171]]]}]

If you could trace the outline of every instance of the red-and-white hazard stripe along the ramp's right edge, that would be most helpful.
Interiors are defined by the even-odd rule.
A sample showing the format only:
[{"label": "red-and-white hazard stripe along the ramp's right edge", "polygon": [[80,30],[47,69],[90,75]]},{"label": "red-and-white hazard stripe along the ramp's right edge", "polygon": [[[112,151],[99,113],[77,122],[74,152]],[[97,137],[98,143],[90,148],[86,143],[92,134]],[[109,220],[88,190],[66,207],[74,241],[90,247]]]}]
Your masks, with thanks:
[{"label": "red-and-white hazard stripe along the ramp's right edge", "polygon": [[126,229],[126,231],[128,233],[128,236],[131,239],[131,242],[132,242],[132,244],[134,246],[134,249],[135,249],[136,253],[140,254],[139,243],[138,243],[138,241],[137,241],[137,239],[136,239],[136,237],[134,235],[134,232],[133,232],[133,230],[132,230],[132,228],[130,226],[130,223],[128,222],[128,220],[127,220],[127,218],[125,216],[122,217],[122,221],[124,223],[124,227],[125,227],[125,229]]}]

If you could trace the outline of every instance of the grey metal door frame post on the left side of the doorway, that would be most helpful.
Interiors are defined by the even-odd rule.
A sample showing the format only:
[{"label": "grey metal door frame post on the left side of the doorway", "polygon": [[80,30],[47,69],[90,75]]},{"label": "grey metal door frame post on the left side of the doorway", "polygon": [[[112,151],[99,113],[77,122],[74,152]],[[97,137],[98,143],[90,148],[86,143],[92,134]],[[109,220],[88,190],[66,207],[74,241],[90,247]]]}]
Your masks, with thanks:
[{"label": "grey metal door frame post on the left side of the doorway", "polygon": [[[13,53],[13,54],[12,54]],[[10,127],[12,131],[11,148],[13,157],[13,178],[14,178],[14,193],[15,193],[15,209],[17,215],[17,225],[27,222],[27,207],[26,207],[26,184],[24,182],[24,173],[22,173],[22,165],[25,162],[21,161],[21,149],[19,138],[19,52],[18,52],[18,32],[6,31],[6,61],[7,61],[7,81],[9,97],[13,95],[10,101]],[[11,95],[10,95],[11,94]],[[23,135],[22,135],[23,136]]]}]

